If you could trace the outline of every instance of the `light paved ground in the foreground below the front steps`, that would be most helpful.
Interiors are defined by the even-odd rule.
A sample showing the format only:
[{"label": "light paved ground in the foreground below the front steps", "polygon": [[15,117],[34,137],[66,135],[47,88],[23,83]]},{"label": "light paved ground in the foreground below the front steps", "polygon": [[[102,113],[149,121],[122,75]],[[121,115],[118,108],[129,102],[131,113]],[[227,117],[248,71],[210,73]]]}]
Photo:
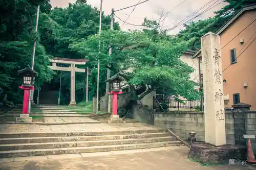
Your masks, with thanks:
[{"label": "light paved ground in the foreground below the front steps", "polygon": [[[151,152],[148,152],[151,151]],[[125,153],[126,152],[126,153]],[[22,158],[16,161],[0,159],[0,169],[6,170],[252,170],[247,165],[201,166],[186,158],[187,147],[168,147],[164,149],[140,151],[115,151],[84,155],[61,155],[38,157],[38,159]],[[97,155],[98,154],[98,155]],[[93,157],[92,157],[93,156]],[[27,160],[26,160],[27,159]]]}]

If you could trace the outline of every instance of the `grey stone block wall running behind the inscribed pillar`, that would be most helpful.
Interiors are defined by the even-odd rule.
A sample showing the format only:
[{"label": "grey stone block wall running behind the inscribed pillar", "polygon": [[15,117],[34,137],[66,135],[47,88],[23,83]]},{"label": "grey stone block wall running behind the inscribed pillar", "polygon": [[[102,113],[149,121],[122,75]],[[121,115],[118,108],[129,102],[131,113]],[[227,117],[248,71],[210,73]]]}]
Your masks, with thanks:
[{"label": "grey stone block wall running behind the inscribed pillar", "polygon": [[[246,134],[256,136],[256,111],[245,111],[245,132]],[[234,113],[225,112],[226,118],[226,143],[235,144],[236,135],[235,128],[239,126],[234,124]],[[188,133],[196,132],[198,141],[204,141],[204,113],[203,112],[168,112],[155,113],[154,125],[160,128],[172,130],[176,135],[187,139]],[[236,126],[234,126],[236,125]],[[240,127],[241,128],[241,127]],[[256,139],[251,139],[252,147],[256,149]],[[256,151],[255,151],[256,152]]]}]

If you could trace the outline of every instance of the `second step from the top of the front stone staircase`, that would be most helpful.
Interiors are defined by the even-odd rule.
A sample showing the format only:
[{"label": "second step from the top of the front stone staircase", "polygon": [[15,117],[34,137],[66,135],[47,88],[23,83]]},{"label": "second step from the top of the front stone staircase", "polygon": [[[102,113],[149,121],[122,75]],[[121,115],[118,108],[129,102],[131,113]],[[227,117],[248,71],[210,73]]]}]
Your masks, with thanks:
[{"label": "second step from the top of the front stone staircase", "polygon": [[137,138],[152,138],[152,137],[154,138],[154,137],[169,137],[169,136],[170,136],[169,133],[142,133],[142,134],[129,134],[129,135],[101,135],[101,136],[18,137],[18,138],[2,138],[0,139],[0,144],[137,139]]}]

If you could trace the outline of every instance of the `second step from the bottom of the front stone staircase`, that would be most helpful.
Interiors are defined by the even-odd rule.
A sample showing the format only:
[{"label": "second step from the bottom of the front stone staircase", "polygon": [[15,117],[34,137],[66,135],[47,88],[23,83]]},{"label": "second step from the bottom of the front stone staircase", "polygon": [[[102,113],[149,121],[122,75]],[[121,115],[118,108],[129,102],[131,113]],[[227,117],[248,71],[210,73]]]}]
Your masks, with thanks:
[{"label": "second step from the bottom of the front stone staircase", "polygon": [[137,138],[137,139],[0,144],[0,151],[54,149],[54,148],[72,148],[72,147],[95,147],[95,146],[101,146],[101,145],[152,143],[152,142],[163,142],[163,141],[174,141],[174,140],[175,140],[175,137],[168,136],[168,137]]}]

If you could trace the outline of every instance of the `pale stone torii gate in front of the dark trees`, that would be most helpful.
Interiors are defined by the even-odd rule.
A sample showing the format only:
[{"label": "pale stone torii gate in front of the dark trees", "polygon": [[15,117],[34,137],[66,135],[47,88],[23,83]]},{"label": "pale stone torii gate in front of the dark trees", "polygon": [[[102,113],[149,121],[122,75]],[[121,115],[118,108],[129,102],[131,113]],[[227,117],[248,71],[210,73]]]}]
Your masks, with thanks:
[{"label": "pale stone torii gate in front of the dark trees", "polygon": [[[52,70],[70,71],[71,85],[70,85],[70,106],[76,106],[75,100],[75,72],[86,72],[86,69],[77,68],[75,65],[85,65],[88,60],[86,59],[68,59],[68,58],[54,58],[50,59],[52,66],[49,66]],[[59,67],[56,63],[70,64],[70,67]]]}]

